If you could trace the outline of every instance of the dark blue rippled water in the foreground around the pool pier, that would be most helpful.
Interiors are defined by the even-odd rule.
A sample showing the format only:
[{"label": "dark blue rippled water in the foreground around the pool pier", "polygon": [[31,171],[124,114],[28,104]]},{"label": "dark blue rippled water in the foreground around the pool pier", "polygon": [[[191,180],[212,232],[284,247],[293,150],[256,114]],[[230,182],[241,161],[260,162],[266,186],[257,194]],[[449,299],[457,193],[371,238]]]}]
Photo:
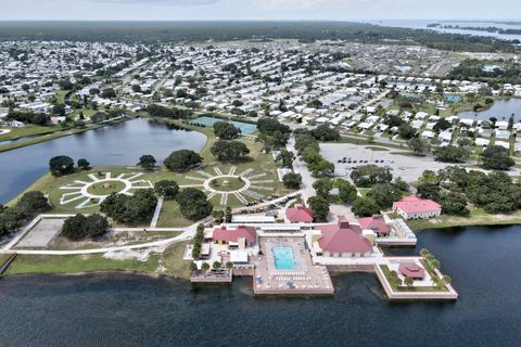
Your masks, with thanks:
[{"label": "dark blue rippled water in the foreground around the pool pier", "polygon": [[[425,231],[456,303],[390,304],[372,274],[331,298],[254,298],[139,275],[0,280],[1,346],[519,346],[521,227]],[[410,250],[412,252],[412,250]]]}]

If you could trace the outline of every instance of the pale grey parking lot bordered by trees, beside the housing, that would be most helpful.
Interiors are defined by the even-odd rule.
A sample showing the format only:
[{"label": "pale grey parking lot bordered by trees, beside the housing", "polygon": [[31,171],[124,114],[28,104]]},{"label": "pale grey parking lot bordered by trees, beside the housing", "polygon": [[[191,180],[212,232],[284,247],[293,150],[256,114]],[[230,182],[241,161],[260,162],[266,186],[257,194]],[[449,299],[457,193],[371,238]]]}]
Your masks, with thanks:
[{"label": "pale grey parking lot bordered by trees, beside the housing", "polygon": [[[387,149],[389,151],[372,151],[367,147],[371,146],[351,143],[320,144],[322,156],[329,162],[334,163],[335,174],[338,176],[348,176],[357,166],[374,164],[378,166],[387,166],[393,177],[401,177],[406,182],[414,182],[418,180],[424,170],[437,171],[449,166],[449,164],[434,162],[432,156],[399,155],[392,154],[393,152],[399,152],[399,150]],[[339,160],[342,160],[344,157],[346,158],[346,163],[339,163]]]}]

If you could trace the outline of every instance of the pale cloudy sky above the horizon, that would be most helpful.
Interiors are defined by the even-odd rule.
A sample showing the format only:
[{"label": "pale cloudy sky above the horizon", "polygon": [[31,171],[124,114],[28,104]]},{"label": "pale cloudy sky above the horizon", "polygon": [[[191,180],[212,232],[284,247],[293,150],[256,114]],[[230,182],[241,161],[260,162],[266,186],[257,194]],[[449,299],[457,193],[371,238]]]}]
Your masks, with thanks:
[{"label": "pale cloudy sky above the horizon", "polygon": [[0,21],[521,20],[520,0],[0,0]]}]

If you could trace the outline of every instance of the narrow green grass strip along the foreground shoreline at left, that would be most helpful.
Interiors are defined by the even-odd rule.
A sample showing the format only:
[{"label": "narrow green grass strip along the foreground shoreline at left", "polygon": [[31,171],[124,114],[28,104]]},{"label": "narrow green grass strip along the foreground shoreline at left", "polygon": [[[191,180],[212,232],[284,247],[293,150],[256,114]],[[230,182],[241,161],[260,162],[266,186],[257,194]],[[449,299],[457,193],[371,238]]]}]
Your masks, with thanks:
[{"label": "narrow green grass strip along the foreground shoreline at left", "polygon": [[28,273],[80,273],[93,271],[139,271],[154,272],[158,265],[158,255],[152,255],[147,261],[112,260],[101,255],[80,256],[30,256],[18,255],[5,274]]}]

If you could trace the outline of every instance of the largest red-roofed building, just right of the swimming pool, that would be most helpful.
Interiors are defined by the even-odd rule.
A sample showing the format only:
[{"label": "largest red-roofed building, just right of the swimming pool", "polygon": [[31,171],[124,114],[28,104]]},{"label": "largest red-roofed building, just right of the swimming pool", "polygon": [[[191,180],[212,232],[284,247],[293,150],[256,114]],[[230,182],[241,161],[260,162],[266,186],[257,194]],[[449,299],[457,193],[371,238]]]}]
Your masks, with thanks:
[{"label": "largest red-roofed building, just right of the swimming pool", "polygon": [[316,228],[322,235],[314,246],[326,257],[366,257],[372,253],[371,243],[361,235],[359,226],[339,222]]}]

